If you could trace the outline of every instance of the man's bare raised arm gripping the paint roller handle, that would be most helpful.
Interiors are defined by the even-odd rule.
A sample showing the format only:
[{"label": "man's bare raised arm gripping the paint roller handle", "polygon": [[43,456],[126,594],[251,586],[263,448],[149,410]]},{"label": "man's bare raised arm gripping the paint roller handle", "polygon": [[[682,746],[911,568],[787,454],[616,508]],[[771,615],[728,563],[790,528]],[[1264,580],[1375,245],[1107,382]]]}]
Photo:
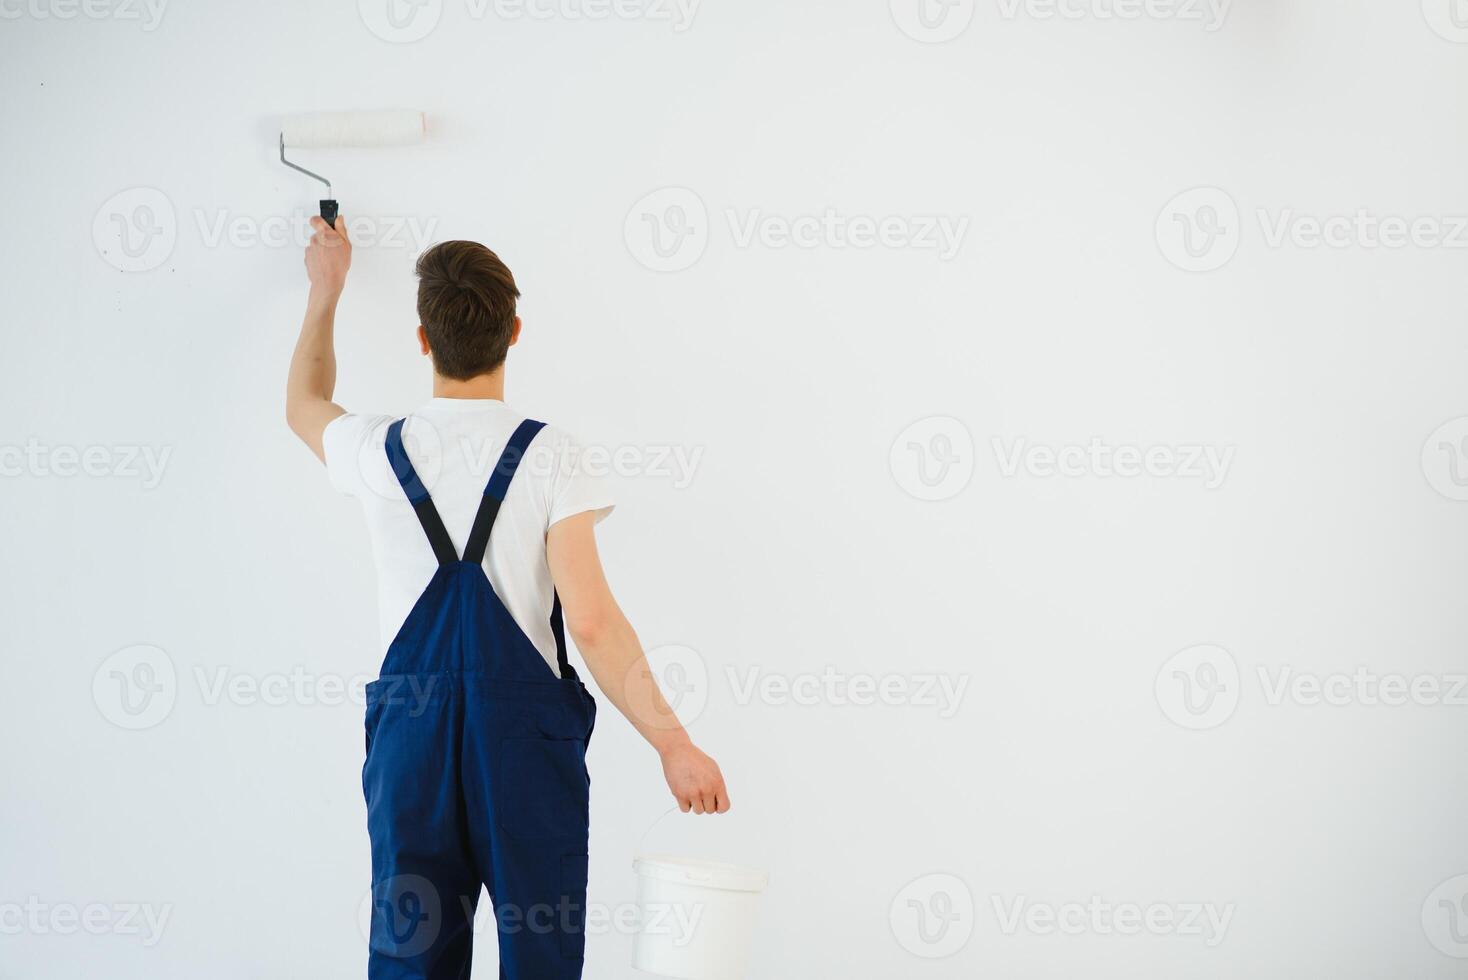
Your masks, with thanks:
[{"label": "man's bare raised arm gripping the paint roller handle", "polygon": [[311,244],[305,249],[305,274],[311,292],[305,301],[305,321],[301,339],[291,356],[291,374],[285,384],[285,420],[291,431],[301,437],[321,461],[321,433],[326,424],[346,409],[332,401],[336,390],[336,348],[332,329],[336,323],[336,301],[346,286],[346,270],[352,264],[352,244],[346,241],[346,224],[341,217],[330,227],[319,217],[311,219]]}]

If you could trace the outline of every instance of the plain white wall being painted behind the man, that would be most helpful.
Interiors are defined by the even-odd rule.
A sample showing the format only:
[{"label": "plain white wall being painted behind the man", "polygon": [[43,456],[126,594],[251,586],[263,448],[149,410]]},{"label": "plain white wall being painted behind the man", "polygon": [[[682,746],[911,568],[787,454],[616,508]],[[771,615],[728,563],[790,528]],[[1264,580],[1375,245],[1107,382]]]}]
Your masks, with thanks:
[{"label": "plain white wall being painted behind the man", "polygon": [[[283,423],[275,120],[377,106],[429,141],[299,154],[376,236],[338,401],[427,398],[421,246],[515,270],[752,976],[1461,976],[1465,12],[386,3],[0,0],[0,977],[363,974],[374,582]],[[617,910],[668,802],[603,709]]]}]

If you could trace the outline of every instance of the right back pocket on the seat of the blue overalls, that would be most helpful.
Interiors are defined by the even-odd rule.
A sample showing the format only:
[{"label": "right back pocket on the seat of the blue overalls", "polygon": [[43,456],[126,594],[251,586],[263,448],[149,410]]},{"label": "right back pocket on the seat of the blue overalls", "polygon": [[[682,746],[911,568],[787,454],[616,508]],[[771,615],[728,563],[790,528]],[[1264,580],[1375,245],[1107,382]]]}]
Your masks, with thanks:
[{"label": "right back pocket on the seat of the blue overalls", "polygon": [[501,742],[495,808],[518,841],[586,838],[590,779],[578,738],[506,738]]}]

